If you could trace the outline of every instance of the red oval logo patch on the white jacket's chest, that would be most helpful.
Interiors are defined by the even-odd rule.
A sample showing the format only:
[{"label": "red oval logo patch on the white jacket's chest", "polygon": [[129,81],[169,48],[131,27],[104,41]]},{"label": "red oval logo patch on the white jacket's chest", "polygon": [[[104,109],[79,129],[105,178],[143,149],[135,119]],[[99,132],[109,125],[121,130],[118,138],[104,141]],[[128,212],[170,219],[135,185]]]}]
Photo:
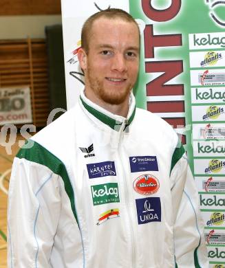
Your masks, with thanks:
[{"label": "red oval logo patch on the white jacket's chest", "polygon": [[141,175],[133,181],[133,189],[138,194],[155,194],[160,188],[158,179],[150,174]]}]

